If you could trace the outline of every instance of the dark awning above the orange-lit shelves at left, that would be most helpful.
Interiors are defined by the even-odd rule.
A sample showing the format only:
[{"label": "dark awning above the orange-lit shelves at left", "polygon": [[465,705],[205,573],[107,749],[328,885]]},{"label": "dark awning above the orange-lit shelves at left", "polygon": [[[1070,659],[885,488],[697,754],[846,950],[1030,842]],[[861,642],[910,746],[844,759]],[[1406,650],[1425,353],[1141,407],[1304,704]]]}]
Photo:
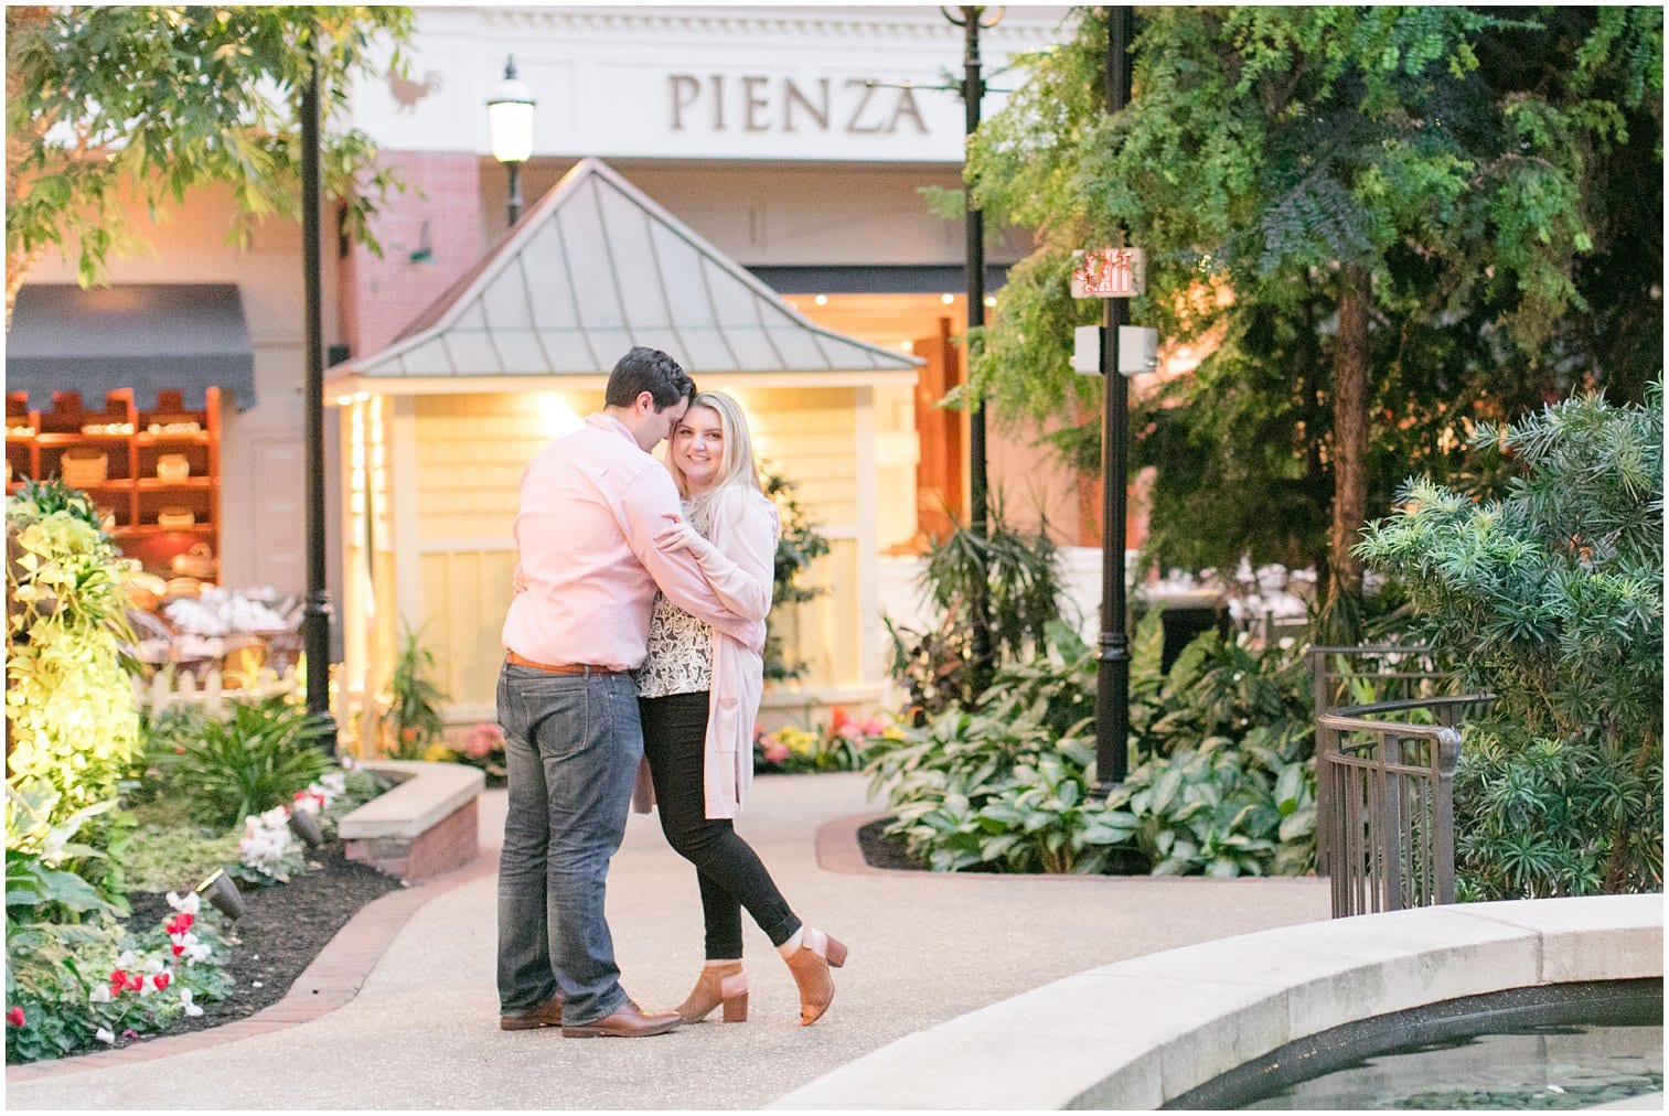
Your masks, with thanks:
[{"label": "dark awning above the orange-lit shelves at left", "polygon": [[118,387],[134,389],[140,409],[164,390],[202,407],[215,385],[247,410],[255,355],[235,284],[37,284],[17,292],[5,380],[40,407],[52,392],[80,392],[97,407]]}]

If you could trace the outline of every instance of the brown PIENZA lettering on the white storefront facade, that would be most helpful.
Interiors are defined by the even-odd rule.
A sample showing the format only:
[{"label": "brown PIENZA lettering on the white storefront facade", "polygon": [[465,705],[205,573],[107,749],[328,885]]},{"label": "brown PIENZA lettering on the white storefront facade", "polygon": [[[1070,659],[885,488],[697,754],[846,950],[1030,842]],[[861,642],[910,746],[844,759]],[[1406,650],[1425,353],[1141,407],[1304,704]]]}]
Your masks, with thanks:
[{"label": "brown PIENZA lettering on the white storefront facade", "polygon": [[793,78],[734,73],[671,73],[673,130],[836,132],[926,135],[915,90],[871,78]]}]

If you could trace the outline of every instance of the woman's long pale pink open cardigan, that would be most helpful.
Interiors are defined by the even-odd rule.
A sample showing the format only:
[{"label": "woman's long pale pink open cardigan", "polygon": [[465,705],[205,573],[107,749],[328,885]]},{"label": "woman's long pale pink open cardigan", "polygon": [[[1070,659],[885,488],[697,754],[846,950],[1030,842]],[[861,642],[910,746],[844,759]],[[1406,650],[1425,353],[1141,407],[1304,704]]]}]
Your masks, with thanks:
[{"label": "woman's long pale pink open cardigan", "polygon": [[[771,611],[776,539],[783,524],[776,505],[761,492],[731,485],[713,509],[709,547],[693,557],[701,576],[724,607],[744,621],[763,621]],[[713,631],[713,686],[708,691],[708,741],[703,759],[708,817],[736,817],[753,784],[753,726],[764,694],[764,637],[741,644]],[[649,762],[638,767],[633,807],[654,804]]]}]

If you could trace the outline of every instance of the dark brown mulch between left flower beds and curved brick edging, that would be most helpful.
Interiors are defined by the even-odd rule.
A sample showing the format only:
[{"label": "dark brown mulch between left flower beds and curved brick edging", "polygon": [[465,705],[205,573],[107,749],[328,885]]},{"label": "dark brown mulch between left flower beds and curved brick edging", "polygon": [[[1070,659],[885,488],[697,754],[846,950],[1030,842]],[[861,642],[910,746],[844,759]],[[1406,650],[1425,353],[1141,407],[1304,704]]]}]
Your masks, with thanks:
[{"label": "dark brown mulch between left flower beds and curved brick edging", "polygon": [[[147,1039],[215,1028],[279,1003],[362,906],[402,887],[392,876],[349,861],[340,841],[314,849],[307,861],[309,871],[287,884],[255,887],[239,882],[244,917],[227,929],[234,943],[227,964],[235,981],[232,994],[202,1003],[200,1016],[180,1018],[162,1031],[149,1033]],[[129,902],[134,907],[130,921],[139,924],[160,922],[174,914],[164,896],[132,892]]]}]

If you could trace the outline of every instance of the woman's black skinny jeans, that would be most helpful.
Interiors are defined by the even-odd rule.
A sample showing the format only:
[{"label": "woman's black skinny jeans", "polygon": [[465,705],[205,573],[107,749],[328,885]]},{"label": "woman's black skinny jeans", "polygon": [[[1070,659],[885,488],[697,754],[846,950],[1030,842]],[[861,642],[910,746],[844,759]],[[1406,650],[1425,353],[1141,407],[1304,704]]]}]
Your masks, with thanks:
[{"label": "woman's black skinny jeans", "polygon": [[696,866],[701,914],[708,927],[708,961],[741,956],[741,909],[773,946],[799,929],[783,892],[758,854],[736,834],[729,817],[708,817],[703,764],[708,692],[639,697],[643,754],[649,757],[661,832],[673,851]]}]

